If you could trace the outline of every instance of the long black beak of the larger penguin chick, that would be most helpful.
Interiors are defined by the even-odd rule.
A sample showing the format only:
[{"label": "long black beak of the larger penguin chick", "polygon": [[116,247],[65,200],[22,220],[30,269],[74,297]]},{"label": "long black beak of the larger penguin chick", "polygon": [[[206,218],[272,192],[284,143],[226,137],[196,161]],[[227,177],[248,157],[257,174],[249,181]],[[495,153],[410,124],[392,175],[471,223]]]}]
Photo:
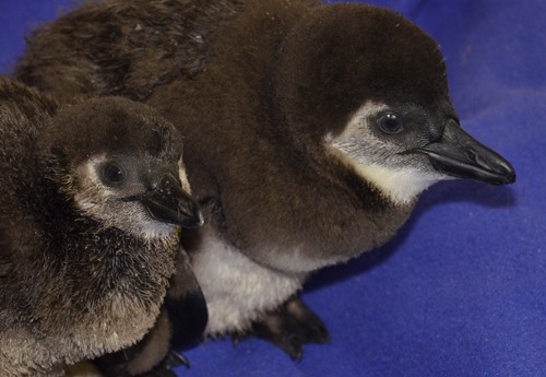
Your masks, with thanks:
[{"label": "long black beak of the larger penguin chick", "polygon": [[489,185],[515,181],[515,172],[508,161],[466,133],[450,119],[441,139],[408,153],[423,153],[440,173],[479,180]]}]

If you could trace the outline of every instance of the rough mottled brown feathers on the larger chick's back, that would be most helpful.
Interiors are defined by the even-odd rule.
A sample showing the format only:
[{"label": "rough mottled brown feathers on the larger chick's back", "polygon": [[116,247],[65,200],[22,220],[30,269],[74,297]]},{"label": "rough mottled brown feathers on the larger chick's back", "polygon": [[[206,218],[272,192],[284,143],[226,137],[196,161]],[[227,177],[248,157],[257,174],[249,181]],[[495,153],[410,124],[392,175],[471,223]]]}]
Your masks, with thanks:
[{"label": "rough mottled brown feathers on the larger chick's back", "polygon": [[156,86],[199,72],[214,30],[241,7],[242,0],[87,3],[28,38],[15,76],[61,101],[144,99]]}]

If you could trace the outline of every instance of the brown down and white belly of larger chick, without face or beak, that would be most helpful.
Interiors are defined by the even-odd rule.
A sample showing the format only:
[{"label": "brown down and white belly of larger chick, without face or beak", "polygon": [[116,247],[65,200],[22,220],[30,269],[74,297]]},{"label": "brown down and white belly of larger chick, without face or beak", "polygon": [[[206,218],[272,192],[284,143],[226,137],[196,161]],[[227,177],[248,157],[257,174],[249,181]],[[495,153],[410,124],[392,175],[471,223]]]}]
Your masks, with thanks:
[{"label": "brown down and white belly of larger chick, without face or beak", "polygon": [[61,98],[142,99],[181,131],[207,209],[207,226],[183,243],[210,334],[290,315],[309,272],[384,244],[406,221],[416,197],[390,200],[325,145],[360,106],[407,103],[456,119],[436,43],[366,4],[92,3],[38,31],[16,76]]}]

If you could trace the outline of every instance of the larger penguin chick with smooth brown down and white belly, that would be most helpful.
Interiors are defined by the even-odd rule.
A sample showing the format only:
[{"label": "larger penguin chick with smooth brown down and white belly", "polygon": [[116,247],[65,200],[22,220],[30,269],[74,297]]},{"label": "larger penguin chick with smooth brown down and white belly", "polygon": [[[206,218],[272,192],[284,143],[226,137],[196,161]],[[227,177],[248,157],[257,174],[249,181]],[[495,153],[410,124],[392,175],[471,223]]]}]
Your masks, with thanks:
[{"label": "larger penguin chick with smooth brown down and white belly", "polygon": [[[108,27],[96,20],[129,2],[75,10],[31,38],[17,75],[54,92],[74,83],[91,95],[144,90],[185,134],[188,178],[207,222],[182,241],[207,302],[207,334],[259,335],[299,358],[304,343],[328,340],[295,296],[312,271],[391,239],[439,180],[514,181],[505,158],[461,129],[437,44],[402,15],[311,0],[174,3],[150,1],[106,22],[120,31],[114,43],[103,42]],[[215,7],[229,12],[203,24],[177,13],[180,5],[206,9],[211,20]],[[145,24],[150,7],[154,21],[176,22]],[[163,48],[177,54],[163,55],[162,67],[170,60],[173,71],[129,90],[150,78],[129,52],[159,48],[150,36],[176,25],[204,36],[199,51],[169,34]],[[134,44],[136,35],[149,37]],[[93,60],[103,54],[107,61]],[[179,71],[181,56],[191,71]],[[69,66],[100,69],[51,75]],[[129,68],[115,80],[100,75],[116,67]]]}]

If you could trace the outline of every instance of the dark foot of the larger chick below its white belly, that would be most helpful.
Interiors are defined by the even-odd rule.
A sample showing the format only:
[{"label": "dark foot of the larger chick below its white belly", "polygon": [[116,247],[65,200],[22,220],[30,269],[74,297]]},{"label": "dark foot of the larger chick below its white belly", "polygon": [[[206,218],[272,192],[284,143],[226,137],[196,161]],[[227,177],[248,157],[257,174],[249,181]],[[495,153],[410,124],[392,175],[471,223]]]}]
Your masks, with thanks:
[{"label": "dark foot of the larger chick below its white belly", "polygon": [[250,337],[275,344],[295,361],[301,360],[304,344],[330,342],[322,320],[296,296],[268,313],[261,321],[254,321],[248,332],[232,335],[235,343]]}]

